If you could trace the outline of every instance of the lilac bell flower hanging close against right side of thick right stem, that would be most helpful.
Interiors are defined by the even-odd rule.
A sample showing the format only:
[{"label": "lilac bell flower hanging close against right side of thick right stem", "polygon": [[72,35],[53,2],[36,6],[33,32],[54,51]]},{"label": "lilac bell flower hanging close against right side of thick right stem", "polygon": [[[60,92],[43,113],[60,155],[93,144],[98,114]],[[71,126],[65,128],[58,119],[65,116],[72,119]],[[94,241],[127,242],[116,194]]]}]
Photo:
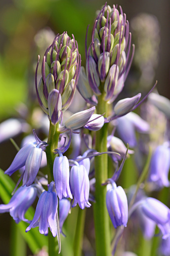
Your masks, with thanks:
[{"label": "lilac bell flower hanging close against right side of thick right stem", "polygon": [[121,225],[126,227],[128,220],[127,197],[122,187],[117,187],[115,182],[106,193],[106,206],[113,226],[115,228]]}]

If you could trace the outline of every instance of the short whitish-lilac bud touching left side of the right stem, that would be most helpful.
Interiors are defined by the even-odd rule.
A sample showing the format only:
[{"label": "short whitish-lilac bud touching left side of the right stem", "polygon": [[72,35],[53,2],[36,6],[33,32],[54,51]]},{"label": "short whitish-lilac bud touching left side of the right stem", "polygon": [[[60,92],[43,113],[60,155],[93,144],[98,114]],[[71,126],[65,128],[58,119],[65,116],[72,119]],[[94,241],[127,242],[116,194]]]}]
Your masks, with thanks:
[{"label": "short whitish-lilac bud touching left side of the right stem", "polygon": [[104,125],[104,117],[101,115],[93,114],[88,123],[84,125],[84,128],[90,130],[90,131],[98,131],[100,130]]}]

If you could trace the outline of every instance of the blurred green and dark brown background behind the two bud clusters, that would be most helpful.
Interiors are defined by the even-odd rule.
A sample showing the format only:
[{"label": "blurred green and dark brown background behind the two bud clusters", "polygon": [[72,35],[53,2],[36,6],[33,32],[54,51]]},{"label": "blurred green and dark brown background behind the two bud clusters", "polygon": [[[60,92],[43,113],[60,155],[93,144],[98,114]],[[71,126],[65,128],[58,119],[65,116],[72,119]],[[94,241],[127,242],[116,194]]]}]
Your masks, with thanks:
[{"label": "blurred green and dark brown background behind the two bud clusters", "polygon": [[[20,112],[27,112],[25,106],[21,105],[22,103],[30,109],[36,104],[34,73],[37,56],[41,53],[41,43],[36,44],[37,37],[35,36],[38,32],[44,28],[50,28],[55,34],[62,34],[63,31],[67,31],[70,36],[74,34],[78,42],[79,53],[82,56],[82,65],[85,65],[87,25],[90,25],[88,34],[88,42],[90,42],[96,10],[99,10],[104,4],[105,2],[101,0],[0,1],[0,122],[10,117],[18,117],[19,105]],[[140,82],[140,88],[137,88],[139,75],[134,72],[136,67],[133,63],[127,84],[133,89],[130,84],[132,83],[136,91],[145,93],[151,88],[151,82],[154,84],[154,81],[158,80],[159,94],[170,98],[170,1],[117,0],[116,2],[107,1],[107,4],[110,6],[121,5],[130,24],[140,13],[155,17],[152,18],[155,20],[156,26],[150,26],[149,19],[143,20],[144,25],[141,30],[142,35],[149,28],[150,34],[154,35],[153,41],[150,39],[148,42],[145,41],[150,48],[147,49],[148,52],[143,52],[143,56],[145,54],[148,56],[154,48],[151,80],[147,81],[146,79],[143,84]],[[131,31],[134,30],[135,22],[132,24]],[[136,41],[137,43],[136,52],[137,47],[140,46],[140,40],[140,37],[132,39],[132,42]],[[21,139],[21,135],[16,137],[18,144]],[[9,166],[9,161],[11,162],[16,154],[16,151],[13,152],[11,148],[9,141],[0,144],[0,163],[3,169]],[[0,216],[0,254],[2,256],[9,255],[9,223],[8,214]]]}]

